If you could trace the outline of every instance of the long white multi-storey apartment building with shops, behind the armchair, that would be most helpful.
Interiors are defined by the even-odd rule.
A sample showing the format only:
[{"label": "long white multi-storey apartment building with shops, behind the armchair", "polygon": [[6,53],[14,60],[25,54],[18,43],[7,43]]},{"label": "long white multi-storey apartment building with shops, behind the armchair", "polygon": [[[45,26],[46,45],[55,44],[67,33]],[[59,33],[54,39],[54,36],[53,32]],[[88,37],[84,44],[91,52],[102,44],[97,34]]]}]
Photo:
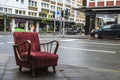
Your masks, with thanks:
[{"label": "long white multi-storey apartment building with shops, behind the armchair", "polygon": [[[80,8],[81,0],[0,0],[0,31],[34,31],[40,32],[45,25],[43,18],[50,18],[50,24],[54,30],[73,23],[84,24],[84,14],[74,10]],[[61,11],[68,10],[69,16],[64,18]],[[47,12],[48,15],[45,14]],[[20,31],[21,31],[20,30]]]}]

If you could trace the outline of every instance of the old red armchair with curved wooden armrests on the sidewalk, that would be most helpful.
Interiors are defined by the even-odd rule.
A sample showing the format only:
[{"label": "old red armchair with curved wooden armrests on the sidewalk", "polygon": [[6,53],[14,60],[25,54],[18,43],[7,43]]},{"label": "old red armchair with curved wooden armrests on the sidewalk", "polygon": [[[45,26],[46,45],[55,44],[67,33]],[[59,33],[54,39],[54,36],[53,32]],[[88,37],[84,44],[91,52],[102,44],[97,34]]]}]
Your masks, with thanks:
[{"label": "old red armchair with curved wooden armrests on the sidewalk", "polygon": [[58,41],[40,44],[36,32],[14,32],[13,37],[13,48],[19,71],[22,67],[26,67],[32,71],[32,76],[35,76],[36,69],[52,66],[53,72],[56,72]]}]

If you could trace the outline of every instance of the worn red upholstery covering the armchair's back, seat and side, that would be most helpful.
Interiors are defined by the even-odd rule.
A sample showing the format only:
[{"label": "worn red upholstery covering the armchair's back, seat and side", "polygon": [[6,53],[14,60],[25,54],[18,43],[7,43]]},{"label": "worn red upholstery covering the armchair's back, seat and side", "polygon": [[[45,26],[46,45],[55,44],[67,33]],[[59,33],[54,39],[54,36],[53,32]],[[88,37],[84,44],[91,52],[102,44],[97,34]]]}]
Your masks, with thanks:
[{"label": "worn red upholstery covering the armchair's back, seat and side", "polygon": [[[29,40],[31,42],[30,53],[29,53],[28,43],[14,47],[16,64],[18,66],[26,67],[34,70],[34,69],[39,69],[39,68],[44,68],[49,66],[53,66],[54,68],[57,65],[58,55],[56,53],[54,54],[51,52],[41,51],[38,33],[14,32],[13,37],[14,37],[14,44],[15,44],[14,46],[24,43],[26,40]],[[32,74],[34,75],[34,71]]]}]

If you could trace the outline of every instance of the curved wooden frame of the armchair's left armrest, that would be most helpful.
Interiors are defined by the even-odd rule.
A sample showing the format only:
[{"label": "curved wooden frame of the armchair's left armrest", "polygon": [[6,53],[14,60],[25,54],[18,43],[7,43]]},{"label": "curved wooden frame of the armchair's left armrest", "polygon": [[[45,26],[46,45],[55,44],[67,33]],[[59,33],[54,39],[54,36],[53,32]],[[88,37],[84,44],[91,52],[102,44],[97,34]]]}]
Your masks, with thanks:
[{"label": "curved wooden frame of the armchair's left armrest", "polygon": [[[22,53],[22,51],[20,50],[20,47],[22,47],[22,46],[24,46],[24,45],[28,45],[28,51],[27,51],[27,53],[28,53],[28,56],[27,56],[27,58],[25,59],[23,59],[22,57],[21,57],[21,55],[20,55],[20,53]],[[30,40],[26,40],[26,41],[24,41],[24,42],[22,42],[22,43],[20,43],[20,44],[14,44],[13,45],[13,48],[14,48],[14,52],[15,52],[15,54],[16,54],[16,56],[18,57],[18,59],[20,60],[20,61],[29,61],[29,56],[30,56],[30,51],[31,51],[31,41]],[[23,47],[22,47],[23,48]]]}]

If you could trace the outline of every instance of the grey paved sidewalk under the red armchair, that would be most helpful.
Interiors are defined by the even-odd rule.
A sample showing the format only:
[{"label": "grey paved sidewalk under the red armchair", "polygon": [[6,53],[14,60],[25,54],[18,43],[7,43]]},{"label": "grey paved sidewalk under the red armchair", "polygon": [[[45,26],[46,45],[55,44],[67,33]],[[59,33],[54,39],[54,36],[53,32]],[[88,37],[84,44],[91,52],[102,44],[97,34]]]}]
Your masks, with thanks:
[{"label": "grey paved sidewalk under the red armchair", "polygon": [[18,71],[13,56],[0,55],[0,80],[120,80],[120,71],[101,68],[78,67],[58,64],[57,73],[37,73],[31,76],[28,69]]}]

